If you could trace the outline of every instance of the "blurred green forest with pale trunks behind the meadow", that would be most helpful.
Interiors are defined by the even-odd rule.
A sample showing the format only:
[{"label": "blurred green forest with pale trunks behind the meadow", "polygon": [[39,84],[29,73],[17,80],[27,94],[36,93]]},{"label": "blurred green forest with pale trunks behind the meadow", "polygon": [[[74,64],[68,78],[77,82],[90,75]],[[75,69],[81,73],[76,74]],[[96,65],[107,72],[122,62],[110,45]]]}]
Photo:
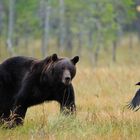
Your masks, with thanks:
[{"label": "blurred green forest with pale trunks behind the meadow", "polygon": [[[34,38],[43,41],[44,31],[47,30],[47,43],[53,42],[59,51],[67,48],[68,52],[70,50],[72,52],[75,47],[73,42],[80,42],[80,40],[82,43],[78,45],[81,48],[91,48],[92,53],[99,46],[108,47],[109,45],[106,44],[118,41],[126,31],[124,27],[131,24],[136,17],[133,0],[14,1],[13,42],[16,42],[18,38],[22,40],[17,41],[19,45],[20,42],[25,42],[27,45]],[[2,21],[4,28],[1,29],[1,36],[6,37],[9,2],[3,0],[0,5],[3,6],[4,12]],[[44,24],[46,23],[47,6],[49,7],[49,18],[47,19],[49,25],[46,29]],[[21,44],[23,45],[23,43]]]}]

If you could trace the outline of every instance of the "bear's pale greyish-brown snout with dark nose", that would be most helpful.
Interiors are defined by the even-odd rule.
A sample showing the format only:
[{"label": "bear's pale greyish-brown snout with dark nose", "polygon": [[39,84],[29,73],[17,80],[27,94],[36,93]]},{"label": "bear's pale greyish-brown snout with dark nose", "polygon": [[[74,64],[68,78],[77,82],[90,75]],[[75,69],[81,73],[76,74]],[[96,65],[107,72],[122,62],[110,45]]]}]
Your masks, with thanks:
[{"label": "bear's pale greyish-brown snout with dark nose", "polygon": [[62,82],[65,84],[65,85],[69,85],[71,83],[71,74],[70,74],[70,71],[69,70],[64,70],[63,72],[63,78],[62,78]]}]

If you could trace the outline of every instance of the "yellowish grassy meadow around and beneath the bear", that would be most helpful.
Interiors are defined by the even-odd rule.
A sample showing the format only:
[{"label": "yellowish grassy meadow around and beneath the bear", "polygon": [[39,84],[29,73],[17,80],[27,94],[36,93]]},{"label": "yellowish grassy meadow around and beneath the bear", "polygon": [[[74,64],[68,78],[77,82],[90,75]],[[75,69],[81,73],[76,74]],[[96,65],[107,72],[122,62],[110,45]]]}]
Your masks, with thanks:
[{"label": "yellowish grassy meadow around and beneath the bear", "polygon": [[[140,111],[126,108],[140,81],[139,46],[119,48],[117,63],[96,68],[80,60],[73,81],[77,114],[65,117],[56,102],[28,109],[24,126],[0,128],[0,140],[138,140]],[[131,55],[130,55],[131,53]]]}]

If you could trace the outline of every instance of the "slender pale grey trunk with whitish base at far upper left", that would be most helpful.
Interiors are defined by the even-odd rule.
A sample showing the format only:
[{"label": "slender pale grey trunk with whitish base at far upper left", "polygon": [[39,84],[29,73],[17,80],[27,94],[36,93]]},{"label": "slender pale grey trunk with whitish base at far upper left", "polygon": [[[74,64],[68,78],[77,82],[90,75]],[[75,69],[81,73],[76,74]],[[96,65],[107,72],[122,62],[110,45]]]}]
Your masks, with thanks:
[{"label": "slender pale grey trunk with whitish base at far upper left", "polygon": [[14,9],[15,9],[15,0],[9,0],[7,48],[10,55],[14,55],[14,50],[13,50],[13,33],[14,33],[14,20],[15,20]]}]

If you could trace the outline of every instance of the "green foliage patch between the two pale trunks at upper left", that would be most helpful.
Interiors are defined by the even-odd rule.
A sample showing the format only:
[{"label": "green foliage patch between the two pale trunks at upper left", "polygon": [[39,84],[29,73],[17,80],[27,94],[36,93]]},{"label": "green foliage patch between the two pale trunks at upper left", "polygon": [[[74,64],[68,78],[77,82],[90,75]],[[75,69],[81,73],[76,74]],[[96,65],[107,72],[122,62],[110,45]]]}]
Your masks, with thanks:
[{"label": "green foliage patch between the two pale trunks at upper left", "polygon": [[16,2],[16,29],[19,33],[32,31],[32,35],[39,33],[39,1],[20,0]]}]

